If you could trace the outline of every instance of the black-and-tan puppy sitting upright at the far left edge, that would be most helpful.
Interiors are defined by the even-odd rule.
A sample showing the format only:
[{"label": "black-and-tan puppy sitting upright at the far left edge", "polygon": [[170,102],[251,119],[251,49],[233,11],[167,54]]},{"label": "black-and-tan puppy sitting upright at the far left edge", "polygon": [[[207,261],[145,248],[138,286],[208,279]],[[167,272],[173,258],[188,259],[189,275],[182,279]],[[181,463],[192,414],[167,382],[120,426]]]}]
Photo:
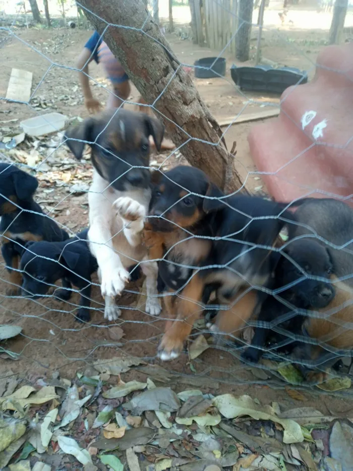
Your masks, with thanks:
[{"label": "black-and-tan puppy sitting upright at the far left edge", "polygon": [[10,272],[8,295],[21,292],[20,255],[28,241],[63,241],[69,238],[55,221],[44,215],[33,195],[37,179],[12,164],[0,163],[0,235],[2,254]]}]

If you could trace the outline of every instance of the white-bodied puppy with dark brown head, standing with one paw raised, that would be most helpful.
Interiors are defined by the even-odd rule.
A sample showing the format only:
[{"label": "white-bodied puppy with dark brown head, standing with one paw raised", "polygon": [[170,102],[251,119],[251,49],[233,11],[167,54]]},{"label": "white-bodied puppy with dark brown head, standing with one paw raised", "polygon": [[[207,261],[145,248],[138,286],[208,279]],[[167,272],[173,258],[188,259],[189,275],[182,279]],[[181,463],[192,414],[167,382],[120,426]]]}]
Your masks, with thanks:
[{"label": "white-bodied puppy with dark brown head, standing with one paw raised", "polygon": [[[91,147],[93,183],[88,194],[89,246],[98,263],[104,318],[120,315],[115,296],[129,280],[127,267],[147,255],[141,244],[144,218],[151,190],[149,137],[160,150],[164,126],[144,113],[110,110],[85,120],[66,133],[67,145],[81,159],[85,143]],[[146,311],[160,312],[157,297],[157,264],[144,260]]]}]

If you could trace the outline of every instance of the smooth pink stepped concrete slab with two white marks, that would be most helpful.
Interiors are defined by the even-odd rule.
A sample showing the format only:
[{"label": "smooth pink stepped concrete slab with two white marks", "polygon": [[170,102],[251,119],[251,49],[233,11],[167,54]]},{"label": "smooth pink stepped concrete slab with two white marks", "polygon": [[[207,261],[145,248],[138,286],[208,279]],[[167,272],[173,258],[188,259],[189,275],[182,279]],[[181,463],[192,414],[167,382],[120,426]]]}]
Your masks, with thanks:
[{"label": "smooth pink stepped concrete slab with two white marks", "polygon": [[275,199],[353,194],[353,44],[326,47],[314,79],[287,88],[278,118],[248,140]]}]

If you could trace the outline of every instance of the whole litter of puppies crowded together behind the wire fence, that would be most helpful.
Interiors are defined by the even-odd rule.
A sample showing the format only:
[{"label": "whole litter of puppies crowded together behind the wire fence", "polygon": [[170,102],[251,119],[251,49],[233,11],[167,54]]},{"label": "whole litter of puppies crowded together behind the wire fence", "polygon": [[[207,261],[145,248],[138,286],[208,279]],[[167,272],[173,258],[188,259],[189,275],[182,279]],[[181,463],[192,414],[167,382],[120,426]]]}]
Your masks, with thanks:
[{"label": "whole litter of puppies crowded together behind the wire fence", "polygon": [[[93,165],[89,227],[73,237],[43,214],[36,178],[0,164],[7,294],[37,299],[61,279],[54,295],[67,301],[76,287],[75,316],[89,322],[97,271],[104,318],[112,321],[122,315],[116,296],[142,273],[145,311],[158,316],[163,307],[168,318],[161,360],[180,356],[206,316],[215,342],[240,345],[242,361],[257,363],[270,351],[291,358],[308,381],[326,381],[353,348],[353,210],[329,198],[290,203],[226,195],[189,166],[151,172],[150,140],[159,150],[163,135],[156,118],[125,110],[66,131],[77,159],[88,143]],[[243,337],[249,326],[250,345]]]}]

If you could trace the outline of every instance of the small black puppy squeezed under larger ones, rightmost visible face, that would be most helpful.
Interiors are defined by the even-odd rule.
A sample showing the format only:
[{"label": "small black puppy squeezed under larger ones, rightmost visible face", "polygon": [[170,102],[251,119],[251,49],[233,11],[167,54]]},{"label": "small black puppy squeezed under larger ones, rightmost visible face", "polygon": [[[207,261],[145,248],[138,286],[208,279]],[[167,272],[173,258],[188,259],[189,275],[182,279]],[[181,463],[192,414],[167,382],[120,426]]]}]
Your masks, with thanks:
[{"label": "small black puppy squeezed under larger ones, rightmost visible face", "polygon": [[283,252],[289,258],[277,252],[279,260],[271,286],[277,294],[268,295],[262,304],[252,346],[242,354],[252,362],[258,362],[263,347],[273,334],[271,329],[277,333],[276,344],[280,342],[282,346],[289,345],[289,350],[293,349],[296,346],[293,339],[302,334],[305,320],[305,316],[298,314],[298,309],[323,308],[334,298],[333,285],[318,280],[329,279],[332,273],[331,259],[325,247],[312,239],[299,239],[290,242]]}]

